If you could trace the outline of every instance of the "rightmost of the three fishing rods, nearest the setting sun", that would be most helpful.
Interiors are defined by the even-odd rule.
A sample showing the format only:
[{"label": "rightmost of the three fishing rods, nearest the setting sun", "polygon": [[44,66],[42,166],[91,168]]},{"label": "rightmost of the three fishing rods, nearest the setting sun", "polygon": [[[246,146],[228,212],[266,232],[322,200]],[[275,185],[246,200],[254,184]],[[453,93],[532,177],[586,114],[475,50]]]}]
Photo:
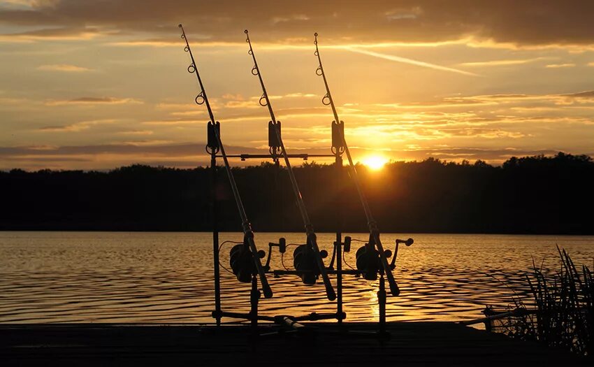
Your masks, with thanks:
[{"label": "rightmost of the three fishing rods, nearest the setting sun", "polygon": [[[317,56],[319,61],[319,66],[316,69],[316,74],[324,78],[324,85],[326,86],[326,95],[321,99],[321,103],[324,106],[330,106],[332,108],[332,113],[334,115],[334,119],[336,124],[342,122],[338,119],[338,113],[336,112],[336,106],[334,104],[334,100],[332,99],[332,94],[330,93],[330,87],[328,87],[328,80],[326,80],[326,74],[324,73],[324,66],[321,64],[321,58],[319,56],[318,50],[318,34],[314,34],[315,41],[314,45],[316,45],[316,51],[314,55]],[[377,222],[373,219],[373,215],[371,214],[371,210],[369,208],[369,203],[365,198],[365,194],[363,194],[363,189],[361,189],[361,182],[357,175],[357,170],[353,163],[353,159],[351,157],[351,152],[349,151],[349,145],[347,145],[347,141],[345,141],[345,135],[342,134],[342,143],[344,144],[345,153],[347,154],[347,158],[349,159],[349,173],[355,182],[355,187],[357,189],[359,199],[361,200],[361,204],[363,205],[363,211],[365,212],[365,217],[367,218],[367,224],[369,227],[369,235],[370,235],[370,242],[373,241],[377,246],[377,251],[379,252],[379,259],[382,264],[382,268],[384,268],[384,273],[386,274],[386,278],[388,279],[388,284],[390,286],[390,292],[394,296],[398,296],[400,294],[400,289],[398,289],[398,284],[396,284],[396,280],[394,279],[394,275],[392,274],[392,269],[388,264],[388,259],[386,258],[386,254],[384,252],[384,247],[382,246],[382,240],[379,239],[379,229],[377,229]]]}]

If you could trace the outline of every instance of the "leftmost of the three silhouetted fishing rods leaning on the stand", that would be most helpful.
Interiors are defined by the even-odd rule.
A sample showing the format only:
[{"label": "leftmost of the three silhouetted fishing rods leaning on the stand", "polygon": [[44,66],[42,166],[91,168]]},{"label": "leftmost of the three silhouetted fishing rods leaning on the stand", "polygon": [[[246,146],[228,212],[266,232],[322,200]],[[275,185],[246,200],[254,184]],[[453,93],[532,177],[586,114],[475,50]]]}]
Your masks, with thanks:
[{"label": "leftmost of the three silhouetted fishing rods leaning on the stand", "polygon": [[227,159],[227,154],[225,154],[225,148],[221,141],[221,134],[219,132],[219,122],[215,122],[215,115],[212,113],[212,108],[210,108],[210,103],[208,102],[208,96],[206,95],[206,91],[204,89],[204,85],[202,84],[202,79],[200,78],[200,73],[198,73],[198,66],[196,66],[196,61],[194,60],[194,55],[191,52],[190,45],[188,43],[188,38],[184,31],[184,27],[182,24],[179,26],[182,29],[182,38],[186,41],[186,47],[184,48],[185,52],[188,52],[191,58],[191,64],[188,66],[189,73],[196,73],[196,78],[198,78],[198,85],[200,85],[200,93],[196,96],[196,103],[198,105],[205,104],[206,109],[208,110],[208,115],[210,117],[210,124],[212,124],[212,131],[215,133],[215,137],[217,138],[217,143],[219,144],[219,148],[221,150],[221,155],[223,157],[223,161],[225,163],[225,171],[227,173],[227,177],[229,177],[229,184],[231,185],[231,191],[233,192],[233,196],[235,197],[235,201],[237,204],[237,209],[239,212],[239,216],[241,218],[241,226],[243,229],[243,235],[245,241],[247,241],[247,245],[249,245],[249,250],[252,252],[252,257],[254,259],[254,265],[256,266],[256,271],[260,278],[260,284],[262,285],[262,292],[264,297],[272,298],[273,291],[270,289],[270,285],[268,285],[268,280],[266,279],[266,273],[264,268],[260,262],[260,256],[258,253],[258,249],[256,247],[256,243],[254,243],[254,231],[252,231],[252,224],[249,223],[247,220],[247,215],[245,214],[245,209],[243,208],[243,203],[241,201],[241,196],[239,194],[239,190],[237,189],[237,185],[235,182],[235,178],[233,178],[233,173],[231,172],[231,166],[229,166],[229,160]]}]

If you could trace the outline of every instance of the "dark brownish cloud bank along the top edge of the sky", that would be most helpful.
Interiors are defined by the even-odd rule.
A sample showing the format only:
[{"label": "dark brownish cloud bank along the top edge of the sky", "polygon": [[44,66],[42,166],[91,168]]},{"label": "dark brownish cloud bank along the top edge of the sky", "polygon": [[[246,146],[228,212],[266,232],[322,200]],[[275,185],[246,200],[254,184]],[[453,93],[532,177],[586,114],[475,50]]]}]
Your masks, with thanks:
[{"label": "dark brownish cloud bank along the top edge of the sky", "polygon": [[[12,1],[13,3],[15,0]],[[0,22],[19,27],[73,29],[93,24],[124,34],[189,34],[215,42],[242,41],[249,27],[254,41],[282,43],[324,34],[328,44],[353,42],[435,43],[474,38],[493,44],[582,45],[594,41],[594,3],[563,1],[378,0],[295,2],[61,0],[18,1],[26,8],[1,8]]]}]

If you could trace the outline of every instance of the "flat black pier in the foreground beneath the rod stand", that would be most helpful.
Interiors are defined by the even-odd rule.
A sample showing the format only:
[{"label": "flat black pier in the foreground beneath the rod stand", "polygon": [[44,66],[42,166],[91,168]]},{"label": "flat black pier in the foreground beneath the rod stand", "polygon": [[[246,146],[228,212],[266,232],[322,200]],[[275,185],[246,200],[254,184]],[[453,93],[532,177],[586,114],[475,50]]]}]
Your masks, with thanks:
[{"label": "flat black pier in the foreground beneath the rod stand", "polygon": [[[310,324],[311,325],[311,324]],[[451,322],[261,326],[0,325],[1,366],[592,366],[592,359]]]}]

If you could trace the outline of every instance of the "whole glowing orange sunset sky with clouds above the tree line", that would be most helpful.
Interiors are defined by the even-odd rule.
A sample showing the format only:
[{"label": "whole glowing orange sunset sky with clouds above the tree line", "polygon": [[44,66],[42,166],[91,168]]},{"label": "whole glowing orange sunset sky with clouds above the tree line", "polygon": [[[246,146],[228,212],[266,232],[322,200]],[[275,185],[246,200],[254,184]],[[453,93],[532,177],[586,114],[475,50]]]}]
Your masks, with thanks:
[{"label": "whole glowing orange sunset sky with clouds above the tree line", "polygon": [[231,153],[267,145],[248,28],[289,152],[329,152],[317,31],[356,160],[594,155],[593,13],[591,1],[0,1],[0,169],[205,164],[179,22]]}]

